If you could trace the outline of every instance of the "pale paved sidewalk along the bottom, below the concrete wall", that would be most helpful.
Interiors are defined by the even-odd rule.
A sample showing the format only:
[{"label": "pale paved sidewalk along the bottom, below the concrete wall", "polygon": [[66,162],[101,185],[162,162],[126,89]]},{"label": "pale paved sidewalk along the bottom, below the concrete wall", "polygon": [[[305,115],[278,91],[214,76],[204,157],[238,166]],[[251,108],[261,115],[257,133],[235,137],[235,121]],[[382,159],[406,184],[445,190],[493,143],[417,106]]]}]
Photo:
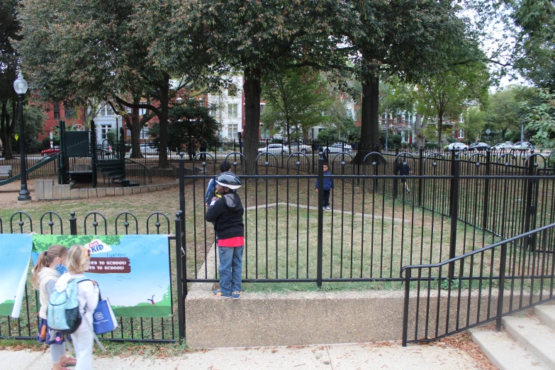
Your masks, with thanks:
[{"label": "pale paved sidewalk along the bottom, below the concrete wall", "polygon": [[[401,347],[397,343],[306,347],[220,348],[167,359],[95,358],[94,369],[481,369],[469,354],[442,345]],[[0,370],[50,369],[48,352],[0,351]]]}]

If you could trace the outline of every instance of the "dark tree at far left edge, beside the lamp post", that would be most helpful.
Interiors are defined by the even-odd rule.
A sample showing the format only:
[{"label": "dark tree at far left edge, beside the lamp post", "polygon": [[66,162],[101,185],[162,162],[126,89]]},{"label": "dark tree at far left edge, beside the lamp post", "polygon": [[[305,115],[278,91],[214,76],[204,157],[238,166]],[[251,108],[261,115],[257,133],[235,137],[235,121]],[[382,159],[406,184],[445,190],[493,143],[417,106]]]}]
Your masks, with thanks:
[{"label": "dark tree at far left edge, beside the lamp post", "polygon": [[0,140],[4,157],[11,158],[11,137],[16,130],[17,95],[13,91],[16,79],[17,54],[12,45],[18,40],[18,1],[0,0]]}]

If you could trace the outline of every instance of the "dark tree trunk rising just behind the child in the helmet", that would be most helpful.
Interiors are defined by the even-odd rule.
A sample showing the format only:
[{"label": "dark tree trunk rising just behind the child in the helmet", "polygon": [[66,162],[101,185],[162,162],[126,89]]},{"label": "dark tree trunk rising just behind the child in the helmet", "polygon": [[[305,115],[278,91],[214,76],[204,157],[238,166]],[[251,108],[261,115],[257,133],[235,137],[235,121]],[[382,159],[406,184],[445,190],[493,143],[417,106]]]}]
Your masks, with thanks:
[{"label": "dark tree trunk rising just behind the child in the helmet", "polygon": [[247,162],[247,168],[243,169],[245,174],[254,174],[257,167],[260,94],[262,94],[260,78],[261,72],[258,69],[245,69],[245,82],[243,83],[243,91],[245,91],[245,128],[243,130],[245,150],[243,150],[243,154]]}]

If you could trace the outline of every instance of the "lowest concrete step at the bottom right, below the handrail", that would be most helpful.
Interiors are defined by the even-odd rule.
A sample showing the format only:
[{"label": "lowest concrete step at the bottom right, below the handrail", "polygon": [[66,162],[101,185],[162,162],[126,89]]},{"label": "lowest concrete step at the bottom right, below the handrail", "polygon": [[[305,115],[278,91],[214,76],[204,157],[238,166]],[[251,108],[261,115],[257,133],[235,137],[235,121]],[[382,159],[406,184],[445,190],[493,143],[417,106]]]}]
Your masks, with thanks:
[{"label": "lowest concrete step at the bottom right, below the handrail", "polygon": [[507,332],[495,332],[474,328],[472,340],[480,346],[488,359],[500,370],[549,369],[525,346],[514,340]]}]

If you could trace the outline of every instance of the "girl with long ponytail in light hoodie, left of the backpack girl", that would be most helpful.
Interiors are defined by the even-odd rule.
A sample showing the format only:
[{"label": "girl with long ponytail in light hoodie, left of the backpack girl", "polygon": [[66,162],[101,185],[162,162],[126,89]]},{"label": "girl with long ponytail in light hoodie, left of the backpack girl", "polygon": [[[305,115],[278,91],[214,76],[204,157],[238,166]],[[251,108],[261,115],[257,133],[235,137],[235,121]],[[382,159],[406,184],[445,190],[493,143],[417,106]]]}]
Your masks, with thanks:
[{"label": "girl with long ponytail in light hoodie, left of the backpack girl", "polygon": [[56,282],[60,278],[60,267],[65,263],[67,249],[63,245],[52,245],[48,250],[38,255],[37,263],[33,268],[33,278],[31,283],[33,288],[39,291],[40,318],[38,325],[37,339],[41,343],[50,346],[50,358],[52,359],[52,369],[66,369],[65,366],[74,366],[76,360],[65,355],[65,340],[62,333],[50,329],[46,320],[46,309],[50,300],[50,293],[55,288]]}]

